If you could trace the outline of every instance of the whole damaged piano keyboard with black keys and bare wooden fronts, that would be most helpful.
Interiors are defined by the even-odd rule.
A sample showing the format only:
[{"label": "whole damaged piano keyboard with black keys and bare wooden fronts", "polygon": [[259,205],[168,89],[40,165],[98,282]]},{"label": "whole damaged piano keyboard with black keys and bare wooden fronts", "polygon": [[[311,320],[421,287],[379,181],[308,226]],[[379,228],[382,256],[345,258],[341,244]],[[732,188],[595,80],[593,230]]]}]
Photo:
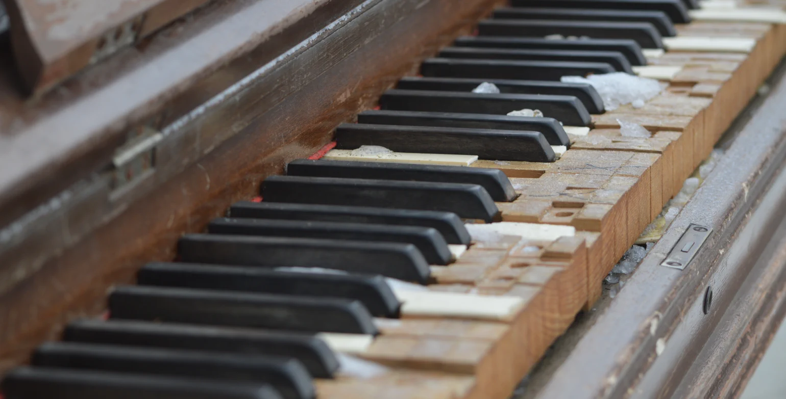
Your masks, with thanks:
[{"label": "whole damaged piano keyboard with black keys and bare wooden fronts", "polygon": [[[513,0],[3,394],[508,397],[786,52],[782,9],[719,3]],[[667,88],[607,109],[560,81],[612,72]]]}]

